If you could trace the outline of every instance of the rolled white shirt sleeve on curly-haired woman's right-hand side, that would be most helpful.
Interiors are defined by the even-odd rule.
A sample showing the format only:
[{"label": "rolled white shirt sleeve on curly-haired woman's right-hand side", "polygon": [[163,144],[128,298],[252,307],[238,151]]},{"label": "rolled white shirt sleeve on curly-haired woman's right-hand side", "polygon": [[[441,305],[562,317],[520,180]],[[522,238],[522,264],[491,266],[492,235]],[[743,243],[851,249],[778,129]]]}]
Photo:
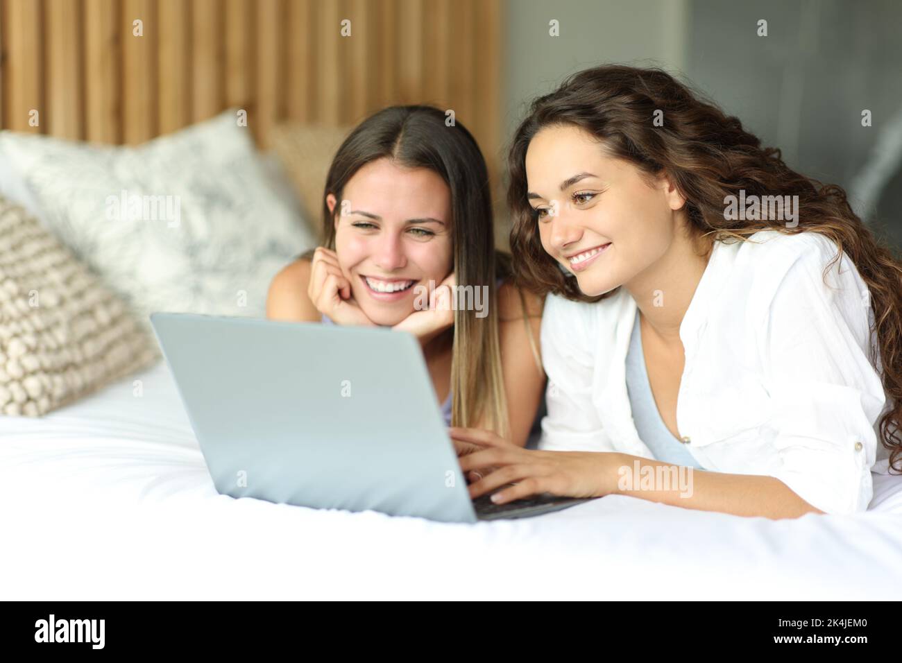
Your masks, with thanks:
[{"label": "rolled white shirt sleeve on curly-haired woman's right-hand side", "polygon": [[870,296],[844,253],[824,272],[836,249],[822,235],[791,246],[770,265],[778,284],[762,323],[773,475],[825,513],[865,511],[886,400],[869,359]]}]

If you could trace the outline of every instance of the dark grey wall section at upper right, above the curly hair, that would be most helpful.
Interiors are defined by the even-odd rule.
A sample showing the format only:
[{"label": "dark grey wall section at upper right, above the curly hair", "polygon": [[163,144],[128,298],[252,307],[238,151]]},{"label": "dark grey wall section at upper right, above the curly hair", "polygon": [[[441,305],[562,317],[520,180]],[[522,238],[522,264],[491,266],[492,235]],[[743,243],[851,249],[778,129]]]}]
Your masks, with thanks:
[{"label": "dark grey wall section at upper right, above the curly hair", "polygon": [[[692,0],[686,74],[790,167],[846,188],[852,207],[902,246],[893,189],[867,205],[865,181],[902,122],[902,3],[897,0]],[[768,36],[757,35],[759,19]],[[861,126],[861,111],[872,126]],[[897,146],[902,158],[902,142]],[[894,148],[894,149],[897,149]],[[898,162],[886,161],[886,180]],[[870,169],[870,170],[868,170]]]}]

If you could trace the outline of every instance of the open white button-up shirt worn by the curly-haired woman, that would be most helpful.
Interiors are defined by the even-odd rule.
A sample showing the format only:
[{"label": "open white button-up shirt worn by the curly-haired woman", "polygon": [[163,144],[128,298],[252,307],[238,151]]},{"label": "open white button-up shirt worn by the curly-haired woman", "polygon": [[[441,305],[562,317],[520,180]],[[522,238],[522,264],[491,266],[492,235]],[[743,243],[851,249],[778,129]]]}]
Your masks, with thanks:
[{"label": "open white button-up shirt worn by the curly-haired woman", "polygon": [[[835,254],[812,232],[714,243],[680,325],[676,424],[705,470],[774,476],[821,511],[851,513],[868,508],[871,468],[888,471],[886,396],[867,286],[845,253],[824,282]],[[624,288],[593,304],[548,296],[539,448],[654,457],[626,389],[635,316]]]}]

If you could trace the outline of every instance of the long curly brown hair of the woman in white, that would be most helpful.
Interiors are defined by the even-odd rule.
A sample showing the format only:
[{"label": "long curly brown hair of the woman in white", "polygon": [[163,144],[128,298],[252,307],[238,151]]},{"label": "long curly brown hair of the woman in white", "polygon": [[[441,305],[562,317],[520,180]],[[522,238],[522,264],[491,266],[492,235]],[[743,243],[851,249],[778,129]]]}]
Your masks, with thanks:
[{"label": "long curly brown hair of the woman in white", "polygon": [[[663,125],[652,122],[656,116],[663,117]],[[630,161],[644,174],[667,173],[686,198],[690,230],[712,243],[742,241],[767,229],[814,232],[832,239],[839,249],[828,270],[846,253],[870,290],[871,333],[876,332],[879,341],[879,360],[871,356],[871,362],[882,364],[888,400],[879,420],[881,443],[890,451],[889,465],[902,472],[897,467],[902,461],[902,265],[855,215],[845,191],[791,170],[777,148],[761,147],[759,138],[744,130],[739,118],[726,115],[666,71],[621,65],[585,69],[532,102],[508,155],[516,281],[538,294],[554,292],[593,302],[614,291],[584,295],[575,279],[567,279],[557,261],[543,250],[538,236],[535,212],[527,199],[526,152],[539,130],[562,124],[593,134],[606,153]],[[749,196],[798,196],[797,225],[725,218],[724,199],[741,189]]]}]

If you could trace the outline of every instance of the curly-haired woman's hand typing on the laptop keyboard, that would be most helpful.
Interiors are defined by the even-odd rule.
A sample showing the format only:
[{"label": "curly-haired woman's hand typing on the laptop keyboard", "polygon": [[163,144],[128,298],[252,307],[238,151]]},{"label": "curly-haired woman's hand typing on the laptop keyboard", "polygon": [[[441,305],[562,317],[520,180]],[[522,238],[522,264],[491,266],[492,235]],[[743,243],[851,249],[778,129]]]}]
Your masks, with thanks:
[{"label": "curly-haired woman's hand typing on the laptop keyboard", "polygon": [[[529,495],[603,497],[616,492],[618,455],[592,451],[538,451],[518,447],[488,430],[448,428],[470,497],[494,493],[499,504]],[[474,474],[475,473],[475,474]]]}]

